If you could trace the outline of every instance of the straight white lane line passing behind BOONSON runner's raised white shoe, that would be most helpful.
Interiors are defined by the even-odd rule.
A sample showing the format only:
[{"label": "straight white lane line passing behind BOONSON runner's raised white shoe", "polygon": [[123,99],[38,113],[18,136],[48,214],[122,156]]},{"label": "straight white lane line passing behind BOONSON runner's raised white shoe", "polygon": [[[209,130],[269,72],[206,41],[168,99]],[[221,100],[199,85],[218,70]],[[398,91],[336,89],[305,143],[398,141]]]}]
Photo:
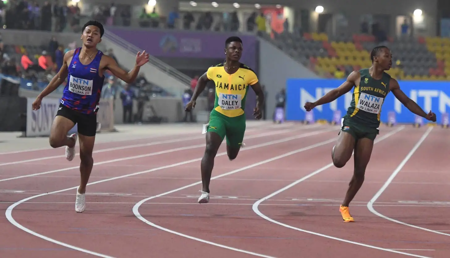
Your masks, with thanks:
[{"label": "straight white lane line passing behind BOONSON runner's raised white shoe", "polygon": [[[293,131],[293,129],[284,129],[284,130],[279,130],[279,131],[274,131],[274,132],[268,132],[267,135],[273,135],[273,134],[278,134],[278,133],[289,133],[292,131]],[[198,139],[203,139],[203,138],[205,138],[204,135],[203,136],[195,136],[195,137],[175,138],[175,139],[171,139],[171,140],[164,140],[164,141],[158,141],[158,142],[140,143],[140,144],[100,149],[100,150],[92,151],[92,153],[100,153],[100,152],[106,152],[106,151],[120,151],[123,149],[148,147],[148,146],[153,146],[153,145],[183,142],[183,141],[192,141],[192,140],[198,140]],[[79,155],[80,155],[80,153],[78,153],[78,152],[75,154],[75,156],[79,156]],[[29,160],[18,160],[18,161],[0,163],[0,166],[21,164],[21,163],[27,163],[27,162],[33,162],[33,161],[40,161],[40,160],[49,160],[49,159],[55,159],[55,158],[64,158],[64,157],[65,157],[64,155],[46,156],[46,157],[29,159]]]}]

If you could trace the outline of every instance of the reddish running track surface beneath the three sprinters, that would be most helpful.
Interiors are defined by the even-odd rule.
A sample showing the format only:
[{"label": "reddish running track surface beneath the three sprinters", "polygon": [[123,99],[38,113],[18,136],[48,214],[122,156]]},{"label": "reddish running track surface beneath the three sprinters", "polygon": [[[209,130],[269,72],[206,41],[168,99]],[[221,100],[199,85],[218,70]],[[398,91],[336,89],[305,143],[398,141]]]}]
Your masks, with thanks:
[{"label": "reddish running track surface beneath the three sprinters", "polygon": [[[406,126],[375,144],[365,184],[351,203],[355,223],[342,222],[338,212],[353,160],[342,169],[331,166],[297,181],[329,165],[334,142],[325,141],[337,137],[337,128],[294,126],[290,132],[287,128],[249,131],[247,146],[236,160],[216,157],[213,176],[234,173],[211,181],[211,202],[206,205],[197,204],[200,184],[185,187],[201,180],[199,160],[204,147],[192,146],[204,145],[204,138],[95,153],[94,162],[107,163],[94,166],[90,182],[109,180],[88,186],[83,214],[74,211],[78,169],[45,173],[76,167],[78,156],[70,163],[64,157],[42,159],[63,155],[62,148],[1,154],[0,209],[7,216],[0,218],[0,257],[95,257],[86,253],[89,251],[120,258],[450,256],[450,236],[389,221],[366,207],[428,128]],[[331,131],[302,135],[324,129]],[[396,129],[382,128],[377,139]],[[263,133],[270,135],[261,136]],[[171,139],[102,143],[96,150]],[[273,144],[264,146],[266,142]],[[321,145],[311,147],[317,143]],[[225,143],[219,152],[224,151]],[[450,233],[449,151],[448,131],[433,128],[379,196],[374,209],[401,222]],[[139,155],[146,156],[134,157]],[[109,162],[120,158],[128,159]],[[30,159],[36,160],[1,165]],[[184,162],[187,160],[191,162]],[[180,162],[184,164],[173,165]],[[114,178],[142,171],[146,172]],[[35,173],[39,175],[27,176]],[[27,177],[1,181],[18,176]],[[295,181],[298,183],[292,187],[254,205]],[[59,191],[67,188],[73,189]],[[59,192],[45,194],[53,191]],[[136,217],[136,203],[166,192],[136,205],[142,218]],[[44,195],[21,201],[40,194]],[[12,212],[7,211],[10,205],[14,206]],[[8,220],[9,215],[12,218]],[[390,251],[394,249],[408,254]]]}]

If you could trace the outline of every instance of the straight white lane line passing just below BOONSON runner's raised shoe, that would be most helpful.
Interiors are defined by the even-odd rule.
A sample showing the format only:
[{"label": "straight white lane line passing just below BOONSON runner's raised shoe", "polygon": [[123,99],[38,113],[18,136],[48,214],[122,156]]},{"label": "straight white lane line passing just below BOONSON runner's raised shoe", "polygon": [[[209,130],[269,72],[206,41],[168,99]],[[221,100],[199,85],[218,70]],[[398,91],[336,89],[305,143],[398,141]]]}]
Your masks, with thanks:
[{"label": "straight white lane line passing just below BOONSON runner's raised shoe", "polygon": [[[315,134],[320,134],[320,133],[324,133],[324,132],[329,132],[329,131],[331,131],[331,130],[330,129],[324,129],[324,130],[315,131],[315,132],[311,132],[311,133],[304,133],[304,134],[300,134],[300,135],[297,135],[297,136],[288,137],[288,138],[284,138],[284,139],[281,139],[281,140],[276,140],[276,141],[273,141],[273,143],[288,142],[288,141],[291,141],[291,140],[294,140],[294,139],[303,138],[303,137],[307,137],[307,136],[311,136],[311,135],[315,135]],[[272,133],[261,133],[261,134],[256,134],[256,135],[249,136],[249,137],[247,137],[247,139],[260,138],[260,137],[265,137],[265,136],[272,135],[272,134],[277,134],[277,133],[275,133],[275,132],[272,132]],[[123,161],[123,160],[133,160],[133,159],[144,158],[144,157],[149,157],[149,156],[156,156],[156,155],[165,154],[165,153],[171,153],[171,152],[175,152],[175,151],[190,150],[190,149],[195,149],[195,148],[200,148],[200,147],[205,147],[205,144],[203,143],[203,144],[192,145],[192,146],[188,146],[188,147],[180,147],[180,148],[169,149],[169,150],[165,150],[165,151],[157,151],[157,152],[152,152],[152,153],[148,153],[148,154],[124,157],[124,158],[119,158],[119,159],[114,159],[114,160],[105,160],[105,161],[101,161],[101,162],[95,162],[94,166],[95,165],[108,164],[108,163],[117,162],[117,161]],[[244,150],[244,149],[248,149],[248,147],[245,147],[242,150]],[[3,178],[3,179],[0,179],[0,182],[9,181],[9,180],[15,180],[15,179],[19,179],[19,178],[29,178],[29,177],[34,177],[34,176],[40,176],[40,175],[56,173],[56,172],[61,172],[61,171],[66,171],[66,170],[71,170],[71,169],[78,169],[79,167],[80,166],[78,165],[78,166],[74,166],[74,167],[68,167],[68,168],[63,168],[63,169],[55,169],[55,170],[50,170],[50,171],[46,171],[46,172],[27,174],[27,175],[12,177],[12,178]]]}]

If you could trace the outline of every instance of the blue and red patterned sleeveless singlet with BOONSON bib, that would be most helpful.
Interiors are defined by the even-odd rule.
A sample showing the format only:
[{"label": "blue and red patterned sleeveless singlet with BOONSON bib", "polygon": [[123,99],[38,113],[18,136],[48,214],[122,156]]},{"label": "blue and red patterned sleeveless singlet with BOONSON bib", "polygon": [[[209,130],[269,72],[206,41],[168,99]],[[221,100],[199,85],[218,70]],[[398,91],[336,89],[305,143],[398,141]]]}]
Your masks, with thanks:
[{"label": "blue and red patterned sleeveless singlet with BOONSON bib", "polygon": [[80,50],[81,48],[77,48],[73,53],[61,103],[83,114],[96,114],[99,110],[100,93],[105,79],[105,76],[99,76],[103,53],[97,52],[94,60],[84,65],[79,59]]}]

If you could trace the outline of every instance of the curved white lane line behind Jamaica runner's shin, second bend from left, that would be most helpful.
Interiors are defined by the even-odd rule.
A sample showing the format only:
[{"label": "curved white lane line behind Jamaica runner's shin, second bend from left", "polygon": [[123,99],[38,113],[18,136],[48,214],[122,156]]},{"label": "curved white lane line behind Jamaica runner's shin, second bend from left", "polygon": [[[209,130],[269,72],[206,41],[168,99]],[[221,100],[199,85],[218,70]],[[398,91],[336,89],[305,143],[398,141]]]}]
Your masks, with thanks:
[{"label": "curved white lane line behind Jamaica runner's shin, second bend from left", "polygon": [[[266,160],[263,160],[263,161],[254,163],[254,164],[252,164],[252,165],[248,165],[248,166],[245,166],[245,167],[240,168],[240,169],[235,169],[235,170],[233,170],[233,171],[230,171],[230,172],[227,172],[227,173],[223,173],[223,174],[217,175],[217,176],[215,176],[215,177],[212,177],[211,180],[214,180],[214,179],[217,179],[217,178],[222,178],[222,177],[225,177],[225,176],[229,176],[229,175],[231,175],[231,174],[238,173],[238,172],[241,172],[241,171],[246,170],[246,169],[251,169],[251,168],[253,168],[253,167],[256,167],[256,166],[259,166],[259,165],[263,165],[263,164],[269,163],[269,162],[274,161],[274,160],[279,160],[279,159],[281,159],[281,158],[284,158],[284,157],[287,157],[287,156],[291,156],[291,155],[297,154],[297,153],[302,152],[302,151],[307,151],[307,150],[310,150],[310,149],[315,148],[315,147],[320,147],[320,146],[323,146],[323,145],[325,145],[325,144],[329,144],[329,143],[332,143],[332,142],[335,142],[335,141],[336,141],[336,138],[333,138],[333,139],[330,139],[330,140],[328,140],[328,141],[319,142],[319,143],[310,145],[310,146],[308,146],[308,147],[303,147],[303,148],[301,148],[301,149],[297,149],[297,150],[295,150],[295,151],[290,151],[290,152],[285,153],[285,154],[283,154],[283,155],[275,156],[275,157],[273,157],[273,158],[266,159]],[[169,232],[169,233],[178,235],[178,236],[183,236],[183,237],[185,237],[185,238],[189,238],[189,239],[192,239],[192,240],[196,240],[196,241],[199,241],[199,242],[202,242],[202,243],[205,243],[205,244],[209,244],[209,245],[214,245],[214,246],[222,247],[222,248],[229,249],[229,250],[233,250],[233,251],[237,251],[237,252],[240,252],[240,253],[252,254],[252,255],[255,255],[255,256],[259,256],[259,257],[269,257],[269,256],[266,256],[266,255],[264,255],[264,254],[257,254],[257,253],[250,252],[250,251],[246,251],[246,250],[243,250],[243,249],[238,249],[238,248],[230,247],[230,246],[227,246],[227,245],[217,244],[217,243],[214,243],[214,242],[211,242],[211,241],[207,241],[207,240],[203,240],[203,239],[200,239],[200,238],[197,238],[197,237],[194,237],[194,236],[185,235],[185,234],[183,234],[183,233],[180,233],[180,232],[177,232],[177,231],[173,231],[173,230],[170,230],[170,229],[165,228],[165,227],[161,227],[161,226],[159,226],[159,225],[157,225],[157,224],[155,224],[155,223],[153,223],[153,222],[148,221],[146,218],[144,218],[144,217],[139,213],[139,207],[140,207],[140,205],[142,205],[143,203],[145,203],[145,202],[148,201],[148,200],[152,200],[152,199],[157,198],[157,197],[165,196],[165,195],[168,195],[168,194],[171,194],[171,193],[174,193],[174,192],[177,192],[177,191],[181,191],[181,190],[183,190],[183,189],[186,189],[186,188],[189,188],[189,187],[193,187],[193,186],[196,186],[196,185],[201,185],[201,184],[202,184],[202,181],[198,181],[198,182],[195,182],[195,183],[186,185],[186,186],[184,186],[184,187],[179,187],[179,188],[176,188],[176,189],[174,189],[174,190],[166,191],[166,192],[164,192],[164,193],[162,193],[162,194],[158,194],[158,195],[155,195],[155,196],[151,196],[151,197],[145,198],[144,200],[140,200],[140,201],[139,201],[138,203],[136,203],[136,205],[133,207],[133,213],[135,214],[135,216],[136,216],[137,218],[139,218],[141,221],[145,222],[146,224],[148,224],[148,225],[150,225],[150,226],[152,226],[152,227],[156,227],[156,228],[158,228],[158,229],[161,229],[161,230],[163,230],[163,231],[166,231],[166,232]]]}]

